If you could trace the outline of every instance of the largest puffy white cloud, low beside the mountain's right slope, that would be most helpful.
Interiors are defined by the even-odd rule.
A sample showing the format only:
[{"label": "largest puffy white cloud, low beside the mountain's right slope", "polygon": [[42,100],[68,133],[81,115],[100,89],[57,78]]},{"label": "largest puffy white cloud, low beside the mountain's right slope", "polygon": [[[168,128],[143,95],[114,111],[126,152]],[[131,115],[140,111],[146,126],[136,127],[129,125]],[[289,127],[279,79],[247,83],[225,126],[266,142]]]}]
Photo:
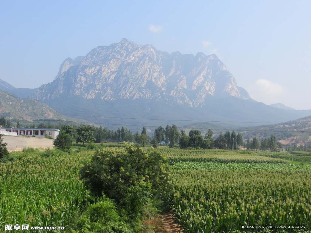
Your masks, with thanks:
[{"label": "largest puffy white cloud, low beside the mountain's right slope", "polygon": [[280,84],[265,79],[258,79],[247,91],[254,100],[265,104],[282,103],[284,97],[284,88]]}]

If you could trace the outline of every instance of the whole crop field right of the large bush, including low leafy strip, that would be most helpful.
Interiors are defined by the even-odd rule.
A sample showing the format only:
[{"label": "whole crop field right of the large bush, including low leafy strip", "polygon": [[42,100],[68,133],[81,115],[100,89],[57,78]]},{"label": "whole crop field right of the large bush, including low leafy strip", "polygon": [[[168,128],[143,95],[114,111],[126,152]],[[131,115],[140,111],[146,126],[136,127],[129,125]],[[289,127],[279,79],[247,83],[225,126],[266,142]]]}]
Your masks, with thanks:
[{"label": "whole crop field right of the large bush, including low leafy strip", "polygon": [[288,153],[160,151],[172,165],[165,199],[184,232],[311,230],[311,166]]}]

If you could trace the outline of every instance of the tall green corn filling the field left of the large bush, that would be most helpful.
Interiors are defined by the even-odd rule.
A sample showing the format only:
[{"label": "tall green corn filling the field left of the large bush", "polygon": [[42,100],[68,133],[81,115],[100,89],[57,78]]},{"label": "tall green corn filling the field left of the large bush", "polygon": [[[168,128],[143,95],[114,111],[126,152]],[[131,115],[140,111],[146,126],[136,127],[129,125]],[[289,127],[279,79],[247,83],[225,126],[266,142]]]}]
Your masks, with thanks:
[{"label": "tall green corn filling the field left of the large bush", "polygon": [[91,154],[0,163],[0,232],[6,224],[68,226],[72,214],[90,199],[78,170]]}]

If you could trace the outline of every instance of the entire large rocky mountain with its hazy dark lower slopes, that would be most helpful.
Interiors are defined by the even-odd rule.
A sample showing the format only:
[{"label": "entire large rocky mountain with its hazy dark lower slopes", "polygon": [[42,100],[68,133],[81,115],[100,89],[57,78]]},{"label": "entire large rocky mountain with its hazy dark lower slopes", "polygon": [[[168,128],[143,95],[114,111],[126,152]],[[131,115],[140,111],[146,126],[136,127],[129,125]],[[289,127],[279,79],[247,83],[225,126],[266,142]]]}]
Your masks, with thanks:
[{"label": "entire large rocky mountain with its hazy dark lower slopes", "polygon": [[67,58],[53,82],[29,98],[114,127],[191,121],[249,126],[308,115],[252,100],[215,54],[169,54],[127,39]]}]

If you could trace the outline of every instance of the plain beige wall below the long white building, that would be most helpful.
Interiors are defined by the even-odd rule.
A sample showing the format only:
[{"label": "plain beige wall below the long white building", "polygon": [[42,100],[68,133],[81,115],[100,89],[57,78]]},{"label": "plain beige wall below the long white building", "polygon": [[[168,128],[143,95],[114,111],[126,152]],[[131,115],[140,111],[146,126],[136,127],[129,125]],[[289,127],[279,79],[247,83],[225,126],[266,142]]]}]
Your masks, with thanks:
[{"label": "plain beige wall below the long white building", "polygon": [[25,147],[52,148],[53,139],[3,135],[9,151],[21,151]]}]

